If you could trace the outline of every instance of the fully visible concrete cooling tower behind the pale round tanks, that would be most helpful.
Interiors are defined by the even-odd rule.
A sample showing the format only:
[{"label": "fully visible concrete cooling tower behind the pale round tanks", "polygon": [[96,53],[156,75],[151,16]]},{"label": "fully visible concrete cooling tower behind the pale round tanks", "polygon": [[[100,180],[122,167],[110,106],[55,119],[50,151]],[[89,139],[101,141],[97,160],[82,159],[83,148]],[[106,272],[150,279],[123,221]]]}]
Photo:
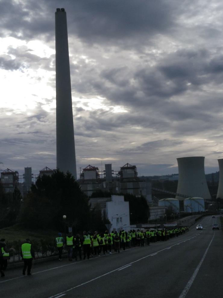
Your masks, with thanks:
[{"label": "fully visible concrete cooling tower behind the pale round tanks", "polygon": [[[204,173],[204,157],[181,157],[177,158],[177,162],[179,171],[177,193],[188,197],[211,199]],[[176,196],[176,199],[184,198]]]}]

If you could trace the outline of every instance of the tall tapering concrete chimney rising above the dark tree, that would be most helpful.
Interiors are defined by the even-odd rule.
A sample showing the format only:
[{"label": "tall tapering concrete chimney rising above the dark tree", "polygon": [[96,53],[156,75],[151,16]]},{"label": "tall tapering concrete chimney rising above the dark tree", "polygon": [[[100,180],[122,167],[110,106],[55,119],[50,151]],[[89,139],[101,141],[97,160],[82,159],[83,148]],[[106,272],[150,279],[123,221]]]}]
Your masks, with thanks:
[{"label": "tall tapering concrete chimney rising above the dark tree", "polygon": [[55,12],[55,38],[57,168],[64,173],[69,171],[77,179],[67,15],[64,8],[57,8]]}]

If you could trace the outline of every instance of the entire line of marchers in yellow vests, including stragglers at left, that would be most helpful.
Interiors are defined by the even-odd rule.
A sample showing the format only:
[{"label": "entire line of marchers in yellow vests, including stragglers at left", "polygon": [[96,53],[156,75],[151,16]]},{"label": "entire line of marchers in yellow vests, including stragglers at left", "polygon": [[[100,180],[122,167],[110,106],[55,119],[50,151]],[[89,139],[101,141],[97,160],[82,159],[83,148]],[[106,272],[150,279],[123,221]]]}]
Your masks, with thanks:
[{"label": "entire line of marchers in yellow vests, including stragglers at left", "polygon": [[[55,238],[55,245],[59,253],[59,261],[62,261],[62,254],[64,248],[68,253],[68,260],[72,261],[77,257],[80,260],[90,259],[93,256],[101,256],[102,254],[111,254],[112,251],[120,253],[120,250],[136,247],[149,246],[150,243],[167,241],[170,238],[178,237],[189,230],[189,227],[178,227],[171,229],[155,229],[155,230],[130,230],[128,232],[122,230],[120,232],[112,231],[108,233],[98,233],[95,231],[83,231],[83,234],[62,237],[62,233],[58,233]],[[35,252],[29,239],[26,239],[21,245],[20,255],[24,261],[22,274],[31,275],[33,261],[35,259]],[[64,256],[64,255],[63,255]],[[5,239],[0,240],[0,271],[1,277],[5,276],[5,270],[8,265],[9,250],[5,243]]]}]

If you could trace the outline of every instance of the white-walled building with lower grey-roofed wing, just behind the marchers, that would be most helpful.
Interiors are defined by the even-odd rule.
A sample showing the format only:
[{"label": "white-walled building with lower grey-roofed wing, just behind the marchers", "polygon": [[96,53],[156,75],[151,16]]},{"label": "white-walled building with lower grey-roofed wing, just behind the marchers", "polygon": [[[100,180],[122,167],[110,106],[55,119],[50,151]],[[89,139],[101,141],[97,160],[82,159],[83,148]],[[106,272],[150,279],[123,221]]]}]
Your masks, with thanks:
[{"label": "white-walled building with lower grey-roofed wing, just behind the marchers", "polygon": [[129,202],[124,201],[124,196],[112,195],[108,198],[92,198],[89,203],[91,208],[100,208],[102,217],[110,223],[110,232],[130,229]]}]

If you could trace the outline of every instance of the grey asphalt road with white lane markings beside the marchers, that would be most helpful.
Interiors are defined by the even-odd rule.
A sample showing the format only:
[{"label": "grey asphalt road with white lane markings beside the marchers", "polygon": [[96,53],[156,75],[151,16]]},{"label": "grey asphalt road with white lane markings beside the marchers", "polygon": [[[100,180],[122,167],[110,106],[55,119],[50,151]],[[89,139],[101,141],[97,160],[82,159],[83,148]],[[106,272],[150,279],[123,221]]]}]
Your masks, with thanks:
[{"label": "grey asphalt road with white lane markings beside the marchers", "polygon": [[11,269],[0,279],[3,297],[223,297],[223,234],[212,231],[219,217],[203,218],[189,232],[165,242],[151,243],[68,262],[34,265],[32,276]]}]

